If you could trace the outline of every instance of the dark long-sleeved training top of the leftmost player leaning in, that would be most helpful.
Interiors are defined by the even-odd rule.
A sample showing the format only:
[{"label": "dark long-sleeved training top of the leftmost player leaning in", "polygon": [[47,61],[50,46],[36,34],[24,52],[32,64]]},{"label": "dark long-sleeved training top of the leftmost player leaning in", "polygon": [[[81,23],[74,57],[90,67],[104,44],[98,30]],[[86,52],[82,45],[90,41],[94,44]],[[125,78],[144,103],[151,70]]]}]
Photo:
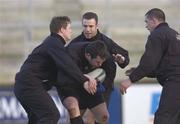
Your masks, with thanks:
[{"label": "dark long-sleeved training top of the leftmost player leaning in", "polygon": [[[65,41],[61,36],[51,33],[25,60],[16,74],[16,83],[33,87],[42,84],[43,81],[56,82],[57,71],[80,84],[87,81],[88,79],[67,54],[64,44]],[[63,78],[59,77],[58,85],[61,85]]]}]

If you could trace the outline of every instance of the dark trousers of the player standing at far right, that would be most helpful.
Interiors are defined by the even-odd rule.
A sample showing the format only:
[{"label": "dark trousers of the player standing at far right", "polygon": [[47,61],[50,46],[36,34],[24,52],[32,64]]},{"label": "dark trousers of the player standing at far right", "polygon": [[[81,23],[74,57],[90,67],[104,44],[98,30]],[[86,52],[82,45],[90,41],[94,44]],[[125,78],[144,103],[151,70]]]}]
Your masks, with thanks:
[{"label": "dark trousers of the player standing at far right", "polygon": [[155,113],[154,124],[175,124],[180,114],[180,84],[167,81],[163,85],[158,110]]}]

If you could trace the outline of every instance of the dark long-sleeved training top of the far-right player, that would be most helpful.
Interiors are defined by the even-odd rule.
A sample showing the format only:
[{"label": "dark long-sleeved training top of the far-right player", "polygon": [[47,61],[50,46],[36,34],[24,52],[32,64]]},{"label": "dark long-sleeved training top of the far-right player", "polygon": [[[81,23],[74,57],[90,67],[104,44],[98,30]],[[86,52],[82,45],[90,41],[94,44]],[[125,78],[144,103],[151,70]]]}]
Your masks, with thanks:
[{"label": "dark long-sleeved training top of the far-right player", "polygon": [[140,63],[129,77],[135,82],[145,76],[156,77],[162,85],[167,78],[180,81],[180,35],[167,23],[151,32]]}]

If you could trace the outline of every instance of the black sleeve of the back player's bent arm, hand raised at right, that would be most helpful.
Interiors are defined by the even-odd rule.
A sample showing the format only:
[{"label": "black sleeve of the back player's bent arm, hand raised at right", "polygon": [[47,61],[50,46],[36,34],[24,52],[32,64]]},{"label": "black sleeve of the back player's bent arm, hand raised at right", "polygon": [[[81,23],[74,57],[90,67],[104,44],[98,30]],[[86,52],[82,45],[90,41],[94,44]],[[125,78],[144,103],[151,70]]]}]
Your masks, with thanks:
[{"label": "black sleeve of the back player's bent arm, hand raised at right", "polygon": [[125,57],[125,61],[122,64],[118,64],[121,68],[125,68],[129,64],[129,53],[127,50],[123,49],[120,47],[118,44],[116,44],[112,39],[110,38],[105,38],[104,40],[106,44],[108,45],[109,52],[111,54],[121,54],[122,56]]}]

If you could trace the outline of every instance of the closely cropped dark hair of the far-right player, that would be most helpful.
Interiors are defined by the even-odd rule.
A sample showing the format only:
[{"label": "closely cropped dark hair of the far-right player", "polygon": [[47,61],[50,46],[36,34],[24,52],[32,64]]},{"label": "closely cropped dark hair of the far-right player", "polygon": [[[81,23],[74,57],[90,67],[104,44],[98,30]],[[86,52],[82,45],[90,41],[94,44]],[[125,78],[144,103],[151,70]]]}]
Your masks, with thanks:
[{"label": "closely cropped dark hair of the far-right player", "polygon": [[158,19],[159,21],[165,21],[166,20],[164,12],[158,8],[153,8],[153,9],[149,10],[145,14],[145,16],[147,16],[147,18],[154,17],[154,18]]}]

